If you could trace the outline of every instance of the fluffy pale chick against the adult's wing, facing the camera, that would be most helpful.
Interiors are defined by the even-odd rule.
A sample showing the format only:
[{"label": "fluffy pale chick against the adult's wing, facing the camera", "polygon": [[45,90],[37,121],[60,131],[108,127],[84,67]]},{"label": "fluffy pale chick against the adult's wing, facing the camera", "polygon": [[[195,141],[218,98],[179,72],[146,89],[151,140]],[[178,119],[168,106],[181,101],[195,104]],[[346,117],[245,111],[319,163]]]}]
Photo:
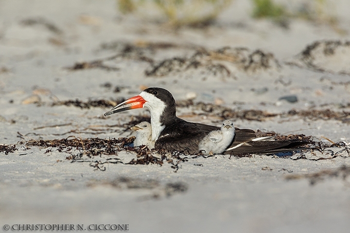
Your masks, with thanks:
[{"label": "fluffy pale chick against the adult's wing, facing the camera", "polygon": [[205,155],[221,154],[231,145],[234,135],[233,122],[224,120],[221,130],[211,131],[201,140],[198,149]]}]

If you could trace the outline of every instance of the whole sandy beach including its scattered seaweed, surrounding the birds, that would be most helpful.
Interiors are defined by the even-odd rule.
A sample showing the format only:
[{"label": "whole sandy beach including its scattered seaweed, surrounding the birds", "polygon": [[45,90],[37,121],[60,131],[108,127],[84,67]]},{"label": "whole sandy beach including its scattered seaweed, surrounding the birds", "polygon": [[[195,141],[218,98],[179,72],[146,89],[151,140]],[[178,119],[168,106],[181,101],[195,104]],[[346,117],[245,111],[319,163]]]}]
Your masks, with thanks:
[{"label": "whole sandy beach including its scattered seaweed, surrounding the birds", "polygon": [[[327,4],[336,24],[256,19],[251,1],[235,0],[209,25],[175,28],[114,0],[0,0],[1,232],[348,232],[350,2]],[[152,86],[185,120],[230,119],[316,149],[123,146],[148,110],[104,113]]]}]

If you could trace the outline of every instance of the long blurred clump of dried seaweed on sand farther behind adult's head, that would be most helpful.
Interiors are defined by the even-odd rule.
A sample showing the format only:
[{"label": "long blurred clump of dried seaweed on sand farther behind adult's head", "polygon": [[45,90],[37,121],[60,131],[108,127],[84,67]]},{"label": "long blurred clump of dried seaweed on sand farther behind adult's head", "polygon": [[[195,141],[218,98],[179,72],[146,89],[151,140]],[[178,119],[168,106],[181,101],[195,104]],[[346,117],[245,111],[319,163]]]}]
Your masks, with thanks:
[{"label": "long blurred clump of dried seaweed on sand farther behind adult's head", "polygon": [[[154,61],[156,50],[179,48],[193,50],[190,56],[174,56],[160,61]],[[105,65],[107,61],[120,61],[132,59],[146,62],[150,67],[146,68],[146,76],[164,77],[170,74],[184,72],[190,69],[205,69],[213,76],[230,77],[237,69],[241,72],[253,74],[261,71],[278,70],[280,64],[272,53],[262,50],[249,50],[247,48],[223,47],[218,50],[205,50],[202,47],[176,45],[162,42],[137,42],[134,44],[125,42],[111,42],[101,45],[103,50],[116,50],[117,54],[94,61],[76,62],[67,67],[70,70],[103,68],[107,70],[119,70],[118,67]],[[232,76],[235,78],[235,76]]]}]

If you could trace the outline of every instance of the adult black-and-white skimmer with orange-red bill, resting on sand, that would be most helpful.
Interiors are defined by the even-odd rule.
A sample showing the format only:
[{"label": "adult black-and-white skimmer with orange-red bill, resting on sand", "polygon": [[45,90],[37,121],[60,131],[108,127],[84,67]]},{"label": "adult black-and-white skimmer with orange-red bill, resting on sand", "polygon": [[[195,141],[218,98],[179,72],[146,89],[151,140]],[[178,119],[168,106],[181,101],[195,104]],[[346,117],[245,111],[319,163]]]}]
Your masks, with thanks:
[{"label": "adult black-and-white skimmer with orange-red bill, resting on sand", "polygon": [[[176,104],[173,95],[166,89],[150,87],[140,95],[118,104],[105,116],[129,109],[146,107],[151,113],[152,141],[156,149],[198,153],[198,145],[212,131],[220,130],[217,126],[187,122],[176,116]],[[225,154],[272,154],[298,150],[307,144],[301,140],[273,140],[271,137],[258,137],[253,130],[235,128],[235,136]],[[300,150],[300,149],[299,149]]]}]

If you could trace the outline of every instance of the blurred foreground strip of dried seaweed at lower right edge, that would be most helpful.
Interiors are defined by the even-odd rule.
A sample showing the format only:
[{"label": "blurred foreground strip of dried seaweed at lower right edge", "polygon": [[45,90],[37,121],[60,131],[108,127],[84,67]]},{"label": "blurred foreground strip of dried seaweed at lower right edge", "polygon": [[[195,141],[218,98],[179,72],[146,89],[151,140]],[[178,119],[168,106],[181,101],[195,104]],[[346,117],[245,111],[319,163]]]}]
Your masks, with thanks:
[{"label": "blurred foreground strip of dried seaweed at lower right edge", "polygon": [[350,175],[350,166],[341,166],[337,169],[333,170],[321,170],[319,172],[315,173],[309,173],[309,174],[295,174],[295,175],[287,175],[285,177],[286,180],[298,180],[298,179],[309,179],[310,184],[314,185],[315,183],[324,180],[327,177],[340,177],[344,181],[346,178]]}]

